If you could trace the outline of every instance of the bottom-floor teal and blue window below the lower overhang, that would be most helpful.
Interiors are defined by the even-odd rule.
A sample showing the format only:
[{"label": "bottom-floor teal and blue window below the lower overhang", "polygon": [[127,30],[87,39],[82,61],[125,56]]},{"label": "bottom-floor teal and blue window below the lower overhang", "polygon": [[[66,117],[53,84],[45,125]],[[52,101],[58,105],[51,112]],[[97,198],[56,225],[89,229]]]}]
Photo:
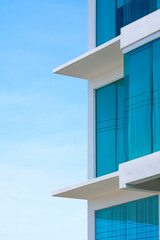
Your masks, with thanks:
[{"label": "bottom-floor teal and blue window below the lower overhang", "polygon": [[153,196],[95,212],[96,240],[159,240],[159,199]]}]

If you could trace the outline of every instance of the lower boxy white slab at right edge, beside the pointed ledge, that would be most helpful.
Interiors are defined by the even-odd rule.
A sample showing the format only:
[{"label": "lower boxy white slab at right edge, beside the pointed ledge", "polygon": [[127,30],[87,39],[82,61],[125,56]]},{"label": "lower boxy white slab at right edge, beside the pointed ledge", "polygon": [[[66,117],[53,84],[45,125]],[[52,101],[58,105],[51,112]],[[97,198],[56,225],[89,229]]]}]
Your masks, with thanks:
[{"label": "lower boxy white slab at right edge, beside the pointed ledge", "polygon": [[160,152],[120,164],[119,187],[160,191]]}]

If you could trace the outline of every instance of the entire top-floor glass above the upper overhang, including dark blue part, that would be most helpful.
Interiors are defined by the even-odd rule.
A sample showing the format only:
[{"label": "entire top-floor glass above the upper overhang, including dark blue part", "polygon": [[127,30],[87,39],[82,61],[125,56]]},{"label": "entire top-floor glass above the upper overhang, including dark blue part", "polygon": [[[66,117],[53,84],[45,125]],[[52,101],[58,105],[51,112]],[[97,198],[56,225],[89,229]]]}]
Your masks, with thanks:
[{"label": "entire top-floor glass above the upper overhang, including dark blue part", "polygon": [[160,8],[160,0],[97,0],[96,46],[120,34],[120,29]]}]

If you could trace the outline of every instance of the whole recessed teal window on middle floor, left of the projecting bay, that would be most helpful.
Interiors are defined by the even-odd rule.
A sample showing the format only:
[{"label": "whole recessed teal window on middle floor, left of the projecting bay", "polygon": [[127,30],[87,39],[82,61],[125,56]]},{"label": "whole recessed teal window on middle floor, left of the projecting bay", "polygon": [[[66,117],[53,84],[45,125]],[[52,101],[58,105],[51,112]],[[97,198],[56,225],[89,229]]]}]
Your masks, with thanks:
[{"label": "whole recessed teal window on middle floor, left of the projecting bay", "polygon": [[123,79],[96,90],[97,177],[123,162]]}]

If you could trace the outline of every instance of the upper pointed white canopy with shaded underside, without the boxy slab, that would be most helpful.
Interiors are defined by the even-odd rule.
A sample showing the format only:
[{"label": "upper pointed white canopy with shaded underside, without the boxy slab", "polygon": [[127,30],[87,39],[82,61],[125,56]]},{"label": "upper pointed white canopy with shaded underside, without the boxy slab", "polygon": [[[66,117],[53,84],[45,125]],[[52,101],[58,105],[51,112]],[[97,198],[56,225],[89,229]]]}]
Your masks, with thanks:
[{"label": "upper pointed white canopy with shaded underside, without the boxy slab", "polygon": [[119,65],[123,65],[120,36],[65,63],[53,72],[90,80]]}]

